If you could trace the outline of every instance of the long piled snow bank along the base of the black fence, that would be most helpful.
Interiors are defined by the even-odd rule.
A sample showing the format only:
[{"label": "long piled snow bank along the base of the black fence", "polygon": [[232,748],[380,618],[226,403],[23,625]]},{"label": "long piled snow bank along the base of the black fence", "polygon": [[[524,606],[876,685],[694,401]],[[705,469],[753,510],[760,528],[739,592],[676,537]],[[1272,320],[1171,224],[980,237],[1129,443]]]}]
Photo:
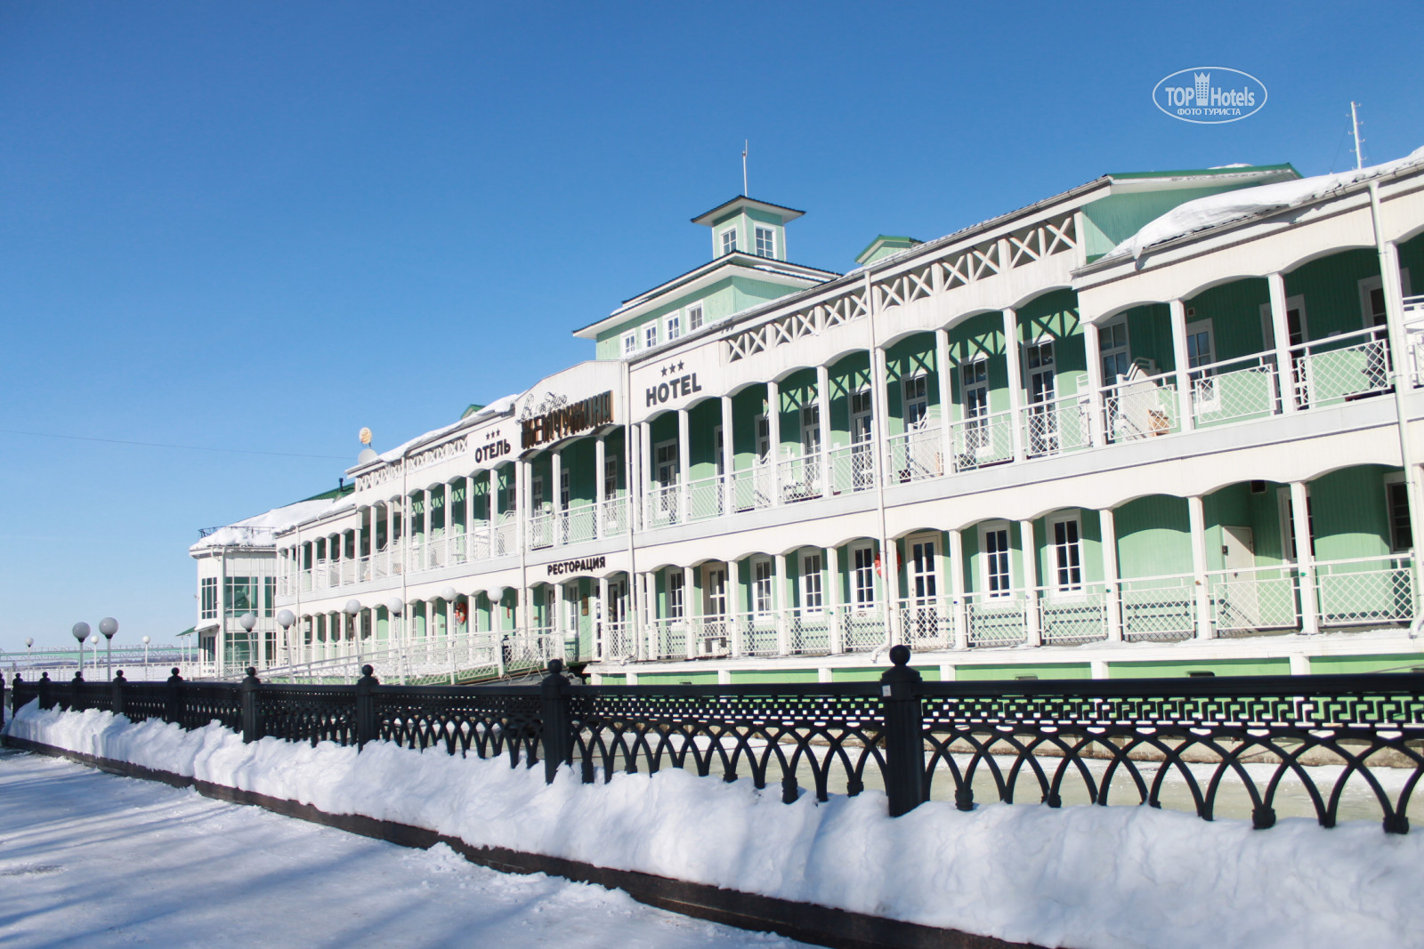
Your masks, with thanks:
[{"label": "long piled snow bank along the base of the black fence", "polygon": [[679,770],[585,785],[568,770],[373,743],[360,753],[41,711],[16,737],[507,847],[1044,946],[1424,946],[1424,835],[1376,822],[1203,822],[1151,808],[930,802],[756,791]]}]

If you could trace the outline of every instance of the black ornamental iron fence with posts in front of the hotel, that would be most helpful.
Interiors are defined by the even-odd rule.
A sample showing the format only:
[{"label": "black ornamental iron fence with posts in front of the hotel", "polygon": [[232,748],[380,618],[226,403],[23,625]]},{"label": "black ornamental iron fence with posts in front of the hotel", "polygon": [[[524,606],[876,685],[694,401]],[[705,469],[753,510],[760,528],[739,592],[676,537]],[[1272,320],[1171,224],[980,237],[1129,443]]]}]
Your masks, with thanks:
[{"label": "black ornamental iron fence with posts in front of the hotel", "polygon": [[[1205,820],[1373,814],[1408,832],[1424,774],[1424,673],[927,683],[896,646],[879,683],[582,686],[558,660],[537,686],[13,683],[13,707],[104,709],[184,728],[444,747],[584,781],[675,767],[782,798],[883,788],[891,815],[926,800],[1148,804]],[[3,709],[0,680],[0,709]]]}]

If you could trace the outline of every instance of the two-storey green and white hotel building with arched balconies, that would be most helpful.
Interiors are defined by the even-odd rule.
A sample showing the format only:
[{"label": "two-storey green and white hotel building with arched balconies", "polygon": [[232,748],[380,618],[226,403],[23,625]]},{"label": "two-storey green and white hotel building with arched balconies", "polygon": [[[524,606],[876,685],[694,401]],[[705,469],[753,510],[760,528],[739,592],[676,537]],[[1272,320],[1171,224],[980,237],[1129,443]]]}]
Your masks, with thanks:
[{"label": "two-storey green and white hotel building with arched balconies", "polygon": [[1109,174],[849,273],[792,263],[800,216],[695,218],[711,259],[591,361],[195,545],[208,672],[1424,667],[1424,149]]}]

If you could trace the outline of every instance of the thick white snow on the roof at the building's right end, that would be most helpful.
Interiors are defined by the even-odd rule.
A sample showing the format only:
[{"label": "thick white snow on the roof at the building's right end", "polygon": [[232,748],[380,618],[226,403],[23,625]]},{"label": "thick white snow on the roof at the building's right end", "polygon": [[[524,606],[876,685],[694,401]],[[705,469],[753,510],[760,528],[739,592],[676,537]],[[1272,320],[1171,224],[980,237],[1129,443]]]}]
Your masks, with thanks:
[{"label": "thick white snow on the roof at the building's right end", "polygon": [[1206,230],[1208,228],[1216,228],[1233,221],[1309,205],[1331,192],[1343,191],[1371,178],[1404,171],[1414,165],[1424,165],[1424,148],[1414,149],[1405,158],[1339,175],[1316,175],[1314,178],[1300,178],[1297,181],[1280,181],[1273,185],[1239,188],[1188,201],[1143,225],[1141,230],[1105,253],[1102,259],[1106,260],[1128,255],[1132,259],[1138,259],[1143,250],[1153,245],[1185,238],[1198,230]]}]

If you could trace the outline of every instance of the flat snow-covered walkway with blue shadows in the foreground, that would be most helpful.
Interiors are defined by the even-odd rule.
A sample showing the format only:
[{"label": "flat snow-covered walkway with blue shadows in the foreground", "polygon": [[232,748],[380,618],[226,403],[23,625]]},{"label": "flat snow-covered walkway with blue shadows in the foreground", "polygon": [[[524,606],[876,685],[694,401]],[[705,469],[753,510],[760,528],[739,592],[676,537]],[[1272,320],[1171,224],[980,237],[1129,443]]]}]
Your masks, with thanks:
[{"label": "flat snow-covered walkway with blue shadows in the foreground", "polygon": [[0,751],[6,946],[799,946],[621,891]]}]

